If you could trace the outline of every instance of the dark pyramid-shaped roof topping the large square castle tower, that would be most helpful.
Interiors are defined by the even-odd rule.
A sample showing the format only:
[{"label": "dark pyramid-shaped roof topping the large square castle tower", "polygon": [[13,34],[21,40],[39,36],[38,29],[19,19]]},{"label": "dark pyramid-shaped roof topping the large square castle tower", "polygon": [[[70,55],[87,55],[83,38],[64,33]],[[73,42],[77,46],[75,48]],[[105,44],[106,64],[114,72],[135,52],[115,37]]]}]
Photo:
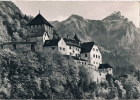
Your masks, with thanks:
[{"label": "dark pyramid-shaped roof topping the large square castle tower", "polygon": [[40,13],[33,19],[31,20],[27,26],[31,26],[31,25],[42,25],[42,24],[46,24],[50,27],[53,27]]}]

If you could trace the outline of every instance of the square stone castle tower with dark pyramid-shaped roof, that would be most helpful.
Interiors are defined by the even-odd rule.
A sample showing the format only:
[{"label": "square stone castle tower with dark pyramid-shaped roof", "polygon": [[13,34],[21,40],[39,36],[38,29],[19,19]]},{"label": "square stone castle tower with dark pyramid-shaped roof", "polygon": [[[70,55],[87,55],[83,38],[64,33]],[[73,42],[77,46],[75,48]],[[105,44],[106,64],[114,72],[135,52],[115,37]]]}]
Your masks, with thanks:
[{"label": "square stone castle tower with dark pyramid-shaped roof", "polygon": [[27,24],[27,41],[36,42],[35,49],[43,50],[45,40],[53,38],[53,26],[39,13]]}]

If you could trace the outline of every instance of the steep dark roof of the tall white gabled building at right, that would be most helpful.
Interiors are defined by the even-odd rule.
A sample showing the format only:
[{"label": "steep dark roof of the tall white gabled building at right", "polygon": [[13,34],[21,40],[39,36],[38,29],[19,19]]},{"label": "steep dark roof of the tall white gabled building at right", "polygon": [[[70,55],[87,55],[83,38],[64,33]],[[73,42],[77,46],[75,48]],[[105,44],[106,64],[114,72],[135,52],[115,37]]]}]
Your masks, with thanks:
[{"label": "steep dark roof of the tall white gabled building at right", "polygon": [[82,43],[81,53],[88,53],[91,51],[92,47],[94,46],[94,42],[85,42]]}]

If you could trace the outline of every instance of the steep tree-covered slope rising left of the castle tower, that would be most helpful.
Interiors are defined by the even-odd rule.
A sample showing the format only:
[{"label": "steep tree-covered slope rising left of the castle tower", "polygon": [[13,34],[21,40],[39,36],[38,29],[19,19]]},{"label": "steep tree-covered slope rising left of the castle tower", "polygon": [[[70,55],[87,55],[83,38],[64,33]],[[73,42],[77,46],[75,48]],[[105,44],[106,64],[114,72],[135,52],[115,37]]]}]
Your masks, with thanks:
[{"label": "steep tree-covered slope rising left of the castle tower", "polygon": [[0,1],[0,42],[21,41],[30,19],[13,2]]}]

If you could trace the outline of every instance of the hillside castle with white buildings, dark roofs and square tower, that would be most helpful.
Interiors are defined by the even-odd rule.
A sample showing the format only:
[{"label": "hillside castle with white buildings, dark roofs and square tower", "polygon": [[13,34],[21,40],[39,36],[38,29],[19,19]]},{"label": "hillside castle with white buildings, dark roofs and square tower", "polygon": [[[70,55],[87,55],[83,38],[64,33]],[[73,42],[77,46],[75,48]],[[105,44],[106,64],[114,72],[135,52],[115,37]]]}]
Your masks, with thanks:
[{"label": "hillside castle with white buildings, dark roofs and square tower", "polygon": [[106,75],[112,74],[112,67],[102,64],[102,54],[95,42],[82,42],[77,34],[72,39],[56,36],[53,26],[40,13],[27,24],[27,32],[26,41],[3,43],[1,49],[59,51],[71,56],[77,66],[86,66],[95,82],[105,81]]}]

